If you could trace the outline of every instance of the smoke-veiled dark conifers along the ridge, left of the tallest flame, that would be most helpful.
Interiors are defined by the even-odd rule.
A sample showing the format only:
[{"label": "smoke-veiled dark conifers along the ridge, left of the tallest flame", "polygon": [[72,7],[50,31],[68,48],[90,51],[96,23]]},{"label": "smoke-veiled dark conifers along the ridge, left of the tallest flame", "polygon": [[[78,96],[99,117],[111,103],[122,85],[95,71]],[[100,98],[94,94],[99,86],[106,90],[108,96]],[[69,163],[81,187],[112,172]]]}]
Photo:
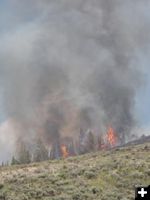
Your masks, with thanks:
[{"label": "smoke-veiled dark conifers along the ridge, left of the tallest flame", "polygon": [[[92,151],[100,150],[103,146],[101,136],[96,136],[92,131],[84,132],[80,130],[78,142],[74,144],[73,140],[67,143],[69,156],[80,155]],[[41,162],[49,159],[61,158],[60,143],[53,144],[49,151],[41,139],[37,139],[33,146],[29,147],[26,143],[19,141],[17,145],[17,153],[12,156],[11,162],[2,163],[2,166],[29,164],[32,162]],[[58,156],[58,157],[57,157]]]}]

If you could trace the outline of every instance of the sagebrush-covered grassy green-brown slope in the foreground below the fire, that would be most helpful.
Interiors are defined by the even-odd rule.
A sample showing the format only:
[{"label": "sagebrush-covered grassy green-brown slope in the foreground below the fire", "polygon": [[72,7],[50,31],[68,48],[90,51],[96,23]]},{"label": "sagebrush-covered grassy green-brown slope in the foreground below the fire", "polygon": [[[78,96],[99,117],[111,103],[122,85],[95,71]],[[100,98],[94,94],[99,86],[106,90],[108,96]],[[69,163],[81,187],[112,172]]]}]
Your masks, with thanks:
[{"label": "sagebrush-covered grassy green-brown slope in the foreground below the fire", "polygon": [[1,168],[0,200],[132,200],[148,184],[150,143]]}]

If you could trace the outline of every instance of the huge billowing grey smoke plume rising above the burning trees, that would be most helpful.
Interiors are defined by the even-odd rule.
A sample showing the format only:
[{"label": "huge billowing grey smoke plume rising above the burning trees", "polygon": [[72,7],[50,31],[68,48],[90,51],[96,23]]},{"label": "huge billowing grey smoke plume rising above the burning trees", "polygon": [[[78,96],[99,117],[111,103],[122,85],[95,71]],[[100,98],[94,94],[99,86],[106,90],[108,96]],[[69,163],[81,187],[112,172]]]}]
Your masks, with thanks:
[{"label": "huge billowing grey smoke plume rising above the burning trees", "polygon": [[[130,135],[147,50],[146,0],[14,0],[0,21],[4,115],[28,143],[51,144],[80,128]],[[0,133],[3,134],[3,133]]]}]

